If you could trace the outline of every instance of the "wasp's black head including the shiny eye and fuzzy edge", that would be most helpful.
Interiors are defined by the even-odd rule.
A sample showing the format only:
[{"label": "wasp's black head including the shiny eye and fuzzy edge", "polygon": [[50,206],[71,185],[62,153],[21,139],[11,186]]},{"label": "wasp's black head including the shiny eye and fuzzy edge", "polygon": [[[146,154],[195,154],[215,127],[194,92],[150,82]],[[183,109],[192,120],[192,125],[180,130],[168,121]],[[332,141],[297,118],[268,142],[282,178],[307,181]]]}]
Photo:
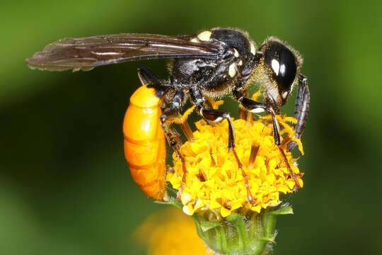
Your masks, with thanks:
[{"label": "wasp's black head including the shiny eye and fuzzy edge", "polygon": [[[284,104],[302,64],[299,53],[277,38],[269,38],[260,47],[263,67],[267,76],[268,94],[274,101]],[[277,85],[277,88],[274,88]]]}]

